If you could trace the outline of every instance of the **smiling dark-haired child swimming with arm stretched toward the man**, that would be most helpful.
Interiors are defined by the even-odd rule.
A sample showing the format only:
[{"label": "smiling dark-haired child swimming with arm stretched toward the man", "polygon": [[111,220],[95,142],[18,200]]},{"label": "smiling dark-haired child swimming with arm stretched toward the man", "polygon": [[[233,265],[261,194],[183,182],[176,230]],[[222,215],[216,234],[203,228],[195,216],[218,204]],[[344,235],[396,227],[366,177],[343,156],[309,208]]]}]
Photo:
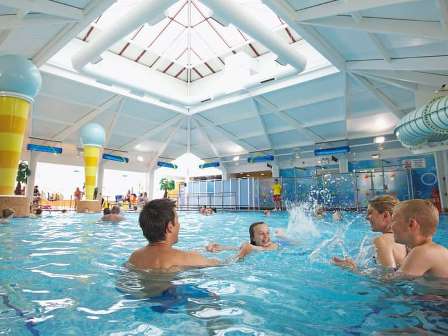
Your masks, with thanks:
[{"label": "smiling dark-haired child swimming with arm stretched toward the man", "polygon": [[250,243],[244,243],[241,247],[210,243],[207,245],[206,250],[209,252],[239,250],[241,257],[243,257],[252,251],[271,251],[278,249],[278,244],[271,241],[269,226],[264,222],[253,223],[249,227],[249,236]]}]

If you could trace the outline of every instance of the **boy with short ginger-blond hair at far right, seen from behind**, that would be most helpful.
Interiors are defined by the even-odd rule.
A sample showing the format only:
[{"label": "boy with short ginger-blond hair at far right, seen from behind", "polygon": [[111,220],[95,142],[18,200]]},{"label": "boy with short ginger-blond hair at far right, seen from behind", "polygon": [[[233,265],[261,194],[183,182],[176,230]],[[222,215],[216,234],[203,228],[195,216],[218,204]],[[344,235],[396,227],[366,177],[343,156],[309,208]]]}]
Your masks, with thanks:
[{"label": "boy with short ginger-blond hair at far right, seen from behind", "polygon": [[448,249],[432,241],[438,223],[439,212],[429,201],[410,200],[395,207],[392,216],[395,241],[411,250],[398,275],[448,278]]}]

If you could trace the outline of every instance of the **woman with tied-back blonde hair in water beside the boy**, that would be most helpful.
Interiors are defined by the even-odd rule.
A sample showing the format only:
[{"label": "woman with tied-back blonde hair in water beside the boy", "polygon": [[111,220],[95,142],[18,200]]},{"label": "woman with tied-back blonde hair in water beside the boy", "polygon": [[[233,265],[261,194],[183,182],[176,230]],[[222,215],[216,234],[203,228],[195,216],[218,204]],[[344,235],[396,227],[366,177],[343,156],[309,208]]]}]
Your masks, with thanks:
[{"label": "woman with tied-back blonde hair in water beside the boy", "polygon": [[[406,257],[406,247],[395,242],[392,232],[392,212],[398,204],[398,199],[393,196],[378,196],[369,201],[366,217],[370,222],[372,231],[381,232],[381,235],[373,240],[377,263],[394,269],[398,268]],[[357,267],[351,259],[334,257],[333,263],[351,269]]]}]

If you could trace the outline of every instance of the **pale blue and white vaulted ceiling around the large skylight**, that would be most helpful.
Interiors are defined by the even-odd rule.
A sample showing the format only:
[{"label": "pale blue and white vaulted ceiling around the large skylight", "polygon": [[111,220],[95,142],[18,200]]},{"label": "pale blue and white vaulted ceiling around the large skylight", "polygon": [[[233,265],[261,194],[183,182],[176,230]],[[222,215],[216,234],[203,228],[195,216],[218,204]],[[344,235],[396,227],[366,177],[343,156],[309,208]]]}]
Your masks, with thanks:
[{"label": "pale blue and white vaulted ceiling around the large skylight", "polygon": [[[75,70],[73,55],[141,1],[0,0],[0,52],[28,57],[43,76],[32,137],[77,144],[96,121],[107,147],[153,158],[188,144],[222,158],[356,142],[391,134],[416,92],[448,75],[445,0],[231,0],[306,58],[300,73],[205,2],[182,0],[102,52],[110,80]],[[240,53],[256,64],[250,84],[226,70]]]}]

